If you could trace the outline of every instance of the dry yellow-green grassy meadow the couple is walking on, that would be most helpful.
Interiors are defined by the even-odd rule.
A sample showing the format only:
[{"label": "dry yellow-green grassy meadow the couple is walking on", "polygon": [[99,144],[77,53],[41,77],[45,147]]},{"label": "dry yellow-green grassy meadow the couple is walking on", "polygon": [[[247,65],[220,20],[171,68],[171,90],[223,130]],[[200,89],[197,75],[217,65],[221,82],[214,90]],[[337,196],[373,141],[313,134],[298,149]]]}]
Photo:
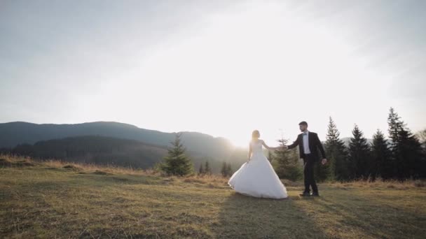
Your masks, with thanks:
[{"label": "dry yellow-green grassy meadow the couple is walking on", "polygon": [[425,182],[235,194],[226,179],[0,156],[0,238],[423,238]]}]

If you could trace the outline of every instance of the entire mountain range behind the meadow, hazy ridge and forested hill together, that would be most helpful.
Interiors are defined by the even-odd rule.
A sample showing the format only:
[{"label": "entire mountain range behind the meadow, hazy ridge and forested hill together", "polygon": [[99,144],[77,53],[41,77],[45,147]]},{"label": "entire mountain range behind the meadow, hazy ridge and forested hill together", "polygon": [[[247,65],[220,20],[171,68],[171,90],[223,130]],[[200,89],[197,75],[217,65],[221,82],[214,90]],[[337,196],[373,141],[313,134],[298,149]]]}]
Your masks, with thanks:
[{"label": "entire mountain range behind the meadow, hazy ridge and forested hill together", "polygon": [[[228,161],[236,169],[247,159],[247,150],[234,147],[225,138],[215,138],[205,133],[197,132],[181,133],[182,141],[197,169],[201,163],[205,163],[207,160],[215,172],[219,171],[222,161]],[[46,157],[47,155],[51,158],[72,158],[72,160],[81,161],[84,160],[83,157],[76,155],[69,157],[69,155],[63,155],[62,150],[64,147],[68,147],[66,145],[74,145],[76,141],[82,140],[88,145],[102,145],[100,147],[102,150],[98,152],[97,157],[89,157],[89,161],[97,162],[100,160],[102,163],[107,164],[120,159],[121,164],[125,164],[125,162],[135,163],[135,157],[139,155],[139,160],[145,162],[138,161],[133,166],[146,168],[153,166],[154,163],[163,158],[166,147],[170,146],[170,141],[174,139],[175,135],[176,133],[140,129],[131,124],[118,122],[90,122],[83,124],[10,122],[0,124],[0,148],[11,148],[20,145],[20,150],[23,150],[22,147],[29,147],[35,143],[33,150],[36,150],[35,156],[37,157]],[[81,136],[85,138],[79,138]],[[88,138],[88,136],[104,136],[114,139]],[[48,145],[51,150],[53,150],[53,147],[50,147],[50,145],[58,145],[59,148],[57,151],[53,150],[53,154],[41,154],[40,150],[44,148],[43,145]],[[123,152],[129,154],[131,159],[124,160],[123,155],[117,157],[118,151],[113,154],[109,152],[108,147],[104,147],[105,145],[109,145],[108,147],[112,148],[123,148]],[[150,151],[155,153],[151,154]],[[114,157],[115,159],[113,160]]]}]

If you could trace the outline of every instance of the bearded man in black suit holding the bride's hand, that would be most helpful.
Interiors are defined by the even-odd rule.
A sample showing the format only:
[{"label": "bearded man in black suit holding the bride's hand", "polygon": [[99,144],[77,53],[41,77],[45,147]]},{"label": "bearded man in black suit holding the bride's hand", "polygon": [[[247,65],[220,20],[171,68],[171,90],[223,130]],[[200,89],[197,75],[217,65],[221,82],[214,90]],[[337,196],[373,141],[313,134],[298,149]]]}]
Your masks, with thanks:
[{"label": "bearded man in black suit holding the bride's hand", "polygon": [[[301,159],[303,159],[303,178],[305,179],[305,191],[301,196],[320,196],[318,194],[318,187],[315,183],[314,178],[314,164],[318,161],[318,150],[321,152],[322,161],[321,163],[327,164],[327,159],[325,157],[324,147],[320,138],[318,138],[317,133],[308,131],[308,123],[302,121],[298,124],[299,129],[302,133],[297,136],[296,141],[293,144],[286,146],[287,149],[291,150],[292,148],[298,145],[298,150]],[[284,148],[286,148],[284,147]],[[310,194],[309,187],[312,187],[312,194]]]}]

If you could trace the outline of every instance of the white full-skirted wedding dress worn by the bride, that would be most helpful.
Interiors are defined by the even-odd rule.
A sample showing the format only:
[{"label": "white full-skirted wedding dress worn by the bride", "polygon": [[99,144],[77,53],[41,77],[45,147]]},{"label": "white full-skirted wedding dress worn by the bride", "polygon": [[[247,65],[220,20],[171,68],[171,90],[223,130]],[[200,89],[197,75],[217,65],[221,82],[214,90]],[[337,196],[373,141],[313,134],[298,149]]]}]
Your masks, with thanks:
[{"label": "white full-skirted wedding dress worn by the bride", "polygon": [[242,164],[228,184],[238,193],[257,198],[287,198],[287,189],[263,155],[261,140],[250,142],[252,158]]}]

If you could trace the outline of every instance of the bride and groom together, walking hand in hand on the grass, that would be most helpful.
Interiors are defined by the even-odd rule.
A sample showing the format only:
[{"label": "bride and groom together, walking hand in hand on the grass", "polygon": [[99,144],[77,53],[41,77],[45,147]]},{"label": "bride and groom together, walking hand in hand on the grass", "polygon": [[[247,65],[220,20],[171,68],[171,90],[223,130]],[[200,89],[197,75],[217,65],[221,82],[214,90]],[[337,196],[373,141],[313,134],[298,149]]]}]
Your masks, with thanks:
[{"label": "bride and groom together, walking hand in hand on the grass", "polygon": [[[291,145],[281,147],[268,147],[260,139],[259,131],[253,131],[252,140],[249,144],[249,160],[242,164],[241,168],[232,175],[228,184],[238,193],[247,196],[275,199],[287,198],[287,189],[278,178],[268,159],[263,155],[262,146],[268,150],[279,148],[289,150],[298,146],[300,157],[303,159],[303,178],[305,181],[305,190],[300,195],[320,196],[314,179],[314,164],[320,158],[318,150],[320,150],[322,156],[321,163],[323,165],[327,164],[324,148],[317,133],[308,131],[307,122],[303,121],[298,125],[302,133],[297,136],[296,141]],[[310,194],[310,187],[312,187],[312,194]]]}]

